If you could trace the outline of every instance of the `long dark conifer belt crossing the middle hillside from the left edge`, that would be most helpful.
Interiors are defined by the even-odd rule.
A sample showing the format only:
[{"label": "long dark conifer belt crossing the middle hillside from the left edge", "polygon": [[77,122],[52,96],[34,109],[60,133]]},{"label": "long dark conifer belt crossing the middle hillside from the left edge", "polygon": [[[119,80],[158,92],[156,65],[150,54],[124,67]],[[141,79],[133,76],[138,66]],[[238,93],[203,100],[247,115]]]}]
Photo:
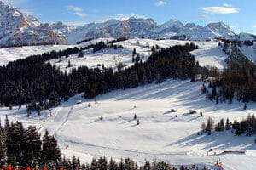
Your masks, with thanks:
[{"label": "long dark conifer belt crossing the middle hillside from the left edge", "polygon": [[[162,48],[154,52],[148,61],[137,61],[125,70],[114,72],[112,68],[89,69],[86,66],[72,69],[70,74],[61,72],[47,60],[77,54],[84,49],[111,48],[98,42],[85,48],[67,48],[18,59],[0,67],[0,103],[4,106],[39,102],[38,109],[57,106],[61,99],[68,99],[84,92],[85,98],[94,98],[114,89],[135,88],[139,85],[161,82],[167,78],[191,78],[200,69],[195,57],[189,54],[195,44]],[[49,99],[49,102],[47,101]],[[32,109],[37,109],[32,107]]]}]

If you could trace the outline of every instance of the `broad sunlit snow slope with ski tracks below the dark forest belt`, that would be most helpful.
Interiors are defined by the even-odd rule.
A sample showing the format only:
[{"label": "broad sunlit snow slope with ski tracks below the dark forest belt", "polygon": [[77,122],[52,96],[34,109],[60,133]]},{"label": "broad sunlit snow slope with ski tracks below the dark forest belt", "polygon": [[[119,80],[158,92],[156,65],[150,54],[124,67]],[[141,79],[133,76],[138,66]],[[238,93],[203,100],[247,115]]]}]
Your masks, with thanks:
[{"label": "broad sunlit snow slope with ski tracks below the dark forest belt", "polygon": [[[127,90],[117,90],[102,94],[95,100],[81,98],[77,94],[68,102],[49,111],[39,118],[38,114],[26,117],[26,107],[20,110],[8,108],[0,110],[9,120],[35,125],[39,133],[45,129],[55,135],[64,156],[79,156],[90,162],[92,157],[107,156],[119,160],[131,157],[139,163],[145,159],[164,160],[175,165],[213,165],[218,159],[225,169],[241,170],[256,167],[255,135],[235,136],[234,133],[212,133],[211,136],[198,135],[201,123],[211,116],[215,122],[221,118],[240,121],[253,113],[256,104],[234,101],[233,104],[216,105],[201,95],[202,82],[191,83],[167,80],[160,84],[150,84]],[[82,104],[76,104],[79,100]],[[89,107],[89,102],[91,107]],[[176,113],[171,113],[176,109]],[[190,115],[189,110],[202,111]],[[140,124],[133,119],[137,114]],[[100,117],[103,117],[100,120]],[[177,116],[177,117],[176,117]],[[68,146],[68,147],[67,147]],[[210,149],[216,156],[207,156]],[[245,155],[221,154],[223,150],[247,150]]]}]

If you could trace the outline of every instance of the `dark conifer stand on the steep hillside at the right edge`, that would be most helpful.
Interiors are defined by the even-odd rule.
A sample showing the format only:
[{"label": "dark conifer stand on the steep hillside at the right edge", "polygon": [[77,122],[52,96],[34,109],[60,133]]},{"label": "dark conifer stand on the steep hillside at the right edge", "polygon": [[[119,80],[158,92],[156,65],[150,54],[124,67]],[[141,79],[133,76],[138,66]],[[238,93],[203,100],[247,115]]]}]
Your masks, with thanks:
[{"label": "dark conifer stand on the steep hillside at the right edge", "polygon": [[[256,66],[236,48],[242,42],[222,42],[219,42],[219,46],[229,55],[227,66],[224,71],[217,71],[209,85],[212,90],[206,92],[207,98],[216,100],[217,104],[226,100],[231,104],[234,98],[242,102],[256,102]],[[245,46],[252,45],[249,41],[243,43]]]}]

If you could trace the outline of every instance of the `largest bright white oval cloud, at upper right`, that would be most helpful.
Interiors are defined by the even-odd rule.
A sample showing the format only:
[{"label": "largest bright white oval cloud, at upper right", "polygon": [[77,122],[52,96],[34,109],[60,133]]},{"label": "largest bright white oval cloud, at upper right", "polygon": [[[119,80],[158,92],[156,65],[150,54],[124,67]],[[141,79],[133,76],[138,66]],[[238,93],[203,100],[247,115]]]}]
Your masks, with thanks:
[{"label": "largest bright white oval cloud, at upper right", "polygon": [[202,8],[204,13],[207,14],[231,14],[231,13],[238,13],[238,8],[228,8],[228,7],[207,7]]}]

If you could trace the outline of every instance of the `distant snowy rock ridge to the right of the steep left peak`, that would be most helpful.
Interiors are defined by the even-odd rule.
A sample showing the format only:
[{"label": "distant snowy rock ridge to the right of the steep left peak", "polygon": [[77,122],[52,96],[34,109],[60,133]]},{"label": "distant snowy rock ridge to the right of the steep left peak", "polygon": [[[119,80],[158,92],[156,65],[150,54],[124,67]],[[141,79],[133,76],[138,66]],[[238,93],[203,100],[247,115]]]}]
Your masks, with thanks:
[{"label": "distant snowy rock ridge to the right of the steep left peak", "polygon": [[[55,26],[51,27],[55,31],[61,31],[56,29]],[[76,29],[69,29],[69,31],[66,29],[61,32],[70,43],[92,37],[170,38],[184,35],[189,40],[207,40],[215,37],[235,36],[230,27],[223,22],[212,23],[207,26],[196,26],[194,23],[183,25],[182,22],[172,19],[162,25],[157,25],[153,19],[138,19],[134,17],[122,21],[108,20],[104,23],[90,23]]]}]

